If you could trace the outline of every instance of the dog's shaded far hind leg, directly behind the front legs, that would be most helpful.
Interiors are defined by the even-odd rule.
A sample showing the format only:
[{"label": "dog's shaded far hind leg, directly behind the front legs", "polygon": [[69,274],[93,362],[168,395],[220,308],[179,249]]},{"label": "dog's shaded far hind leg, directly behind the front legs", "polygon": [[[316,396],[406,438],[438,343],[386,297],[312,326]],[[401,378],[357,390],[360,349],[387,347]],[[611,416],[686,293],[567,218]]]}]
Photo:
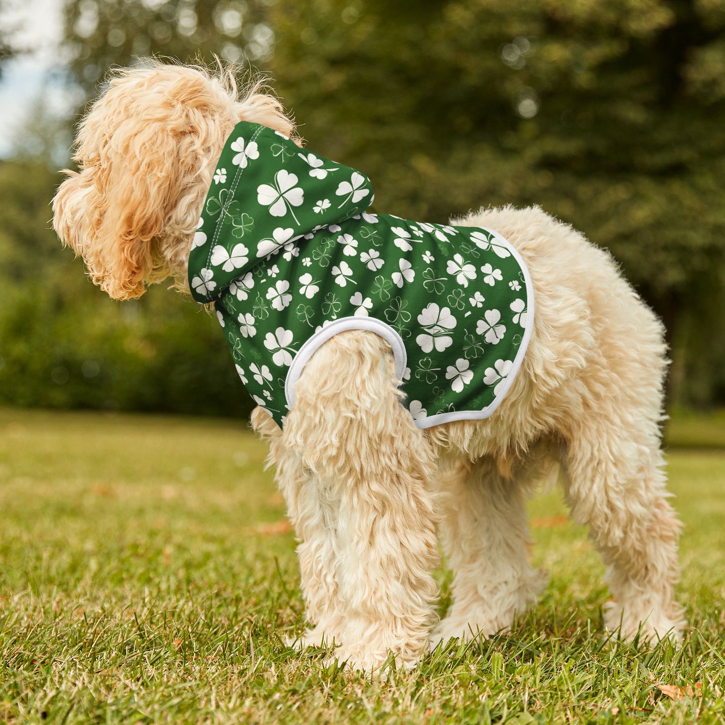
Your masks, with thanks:
[{"label": "dog's shaded far hind leg, directly behind the front legs", "polygon": [[431,644],[505,631],[537,601],[546,577],[529,563],[526,476],[502,476],[492,457],[438,479],[441,534],[453,570],[452,605]]}]

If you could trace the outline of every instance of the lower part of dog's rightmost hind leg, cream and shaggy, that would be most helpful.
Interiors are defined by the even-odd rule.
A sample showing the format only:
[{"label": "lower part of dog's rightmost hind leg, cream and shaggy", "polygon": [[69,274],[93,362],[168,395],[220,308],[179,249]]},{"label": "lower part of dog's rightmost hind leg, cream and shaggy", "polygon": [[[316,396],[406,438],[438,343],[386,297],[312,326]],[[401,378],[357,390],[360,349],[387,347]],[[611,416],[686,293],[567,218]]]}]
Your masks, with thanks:
[{"label": "lower part of dog's rightmost hind leg, cream and shaggy", "polygon": [[565,493],[577,523],[588,523],[608,566],[614,602],[605,626],[632,639],[679,639],[682,610],[674,600],[680,525],[669,505],[654,421],[603,411],[572,431]]}]

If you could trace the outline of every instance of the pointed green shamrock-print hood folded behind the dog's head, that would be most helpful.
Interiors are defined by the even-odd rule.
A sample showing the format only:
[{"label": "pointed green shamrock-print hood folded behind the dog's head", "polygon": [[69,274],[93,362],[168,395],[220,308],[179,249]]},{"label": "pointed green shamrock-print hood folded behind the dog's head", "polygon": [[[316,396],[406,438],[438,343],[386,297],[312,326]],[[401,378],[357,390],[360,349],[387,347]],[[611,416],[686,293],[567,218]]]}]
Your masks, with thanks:
[{"label": "pointed green shamrock-print hood folded behind the dog's head", "polygon": [[359,171],[241,121],[224,144],[194,235],[192,296],[202,304],[218,299],[284,247],[372,203],[370,180]]}]

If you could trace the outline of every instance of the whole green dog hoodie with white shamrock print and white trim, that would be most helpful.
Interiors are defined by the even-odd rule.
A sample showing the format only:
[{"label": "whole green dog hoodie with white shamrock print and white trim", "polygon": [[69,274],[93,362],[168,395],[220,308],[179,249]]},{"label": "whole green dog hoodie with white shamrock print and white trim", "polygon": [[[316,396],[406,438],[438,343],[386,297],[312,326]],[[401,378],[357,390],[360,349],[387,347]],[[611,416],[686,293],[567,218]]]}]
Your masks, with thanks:
[{"label": "whole green dog hoodie with white shamrock print and white trim", "polygon": [[280,426],[300,360],[358,326],[391,341],[419,427],[485,418],[531,333],[521,258],[495,231],[370,214],[372,202],[360,172],[239,123],[191,249],[194,299],[214,302],[242,382]]}]

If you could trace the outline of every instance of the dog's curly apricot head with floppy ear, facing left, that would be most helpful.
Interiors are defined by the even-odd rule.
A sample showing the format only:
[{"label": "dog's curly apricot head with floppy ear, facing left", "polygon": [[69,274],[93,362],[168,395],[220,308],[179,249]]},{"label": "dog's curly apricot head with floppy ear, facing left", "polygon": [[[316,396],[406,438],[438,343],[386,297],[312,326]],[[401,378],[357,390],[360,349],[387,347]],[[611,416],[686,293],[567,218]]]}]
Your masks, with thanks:
[{"label": "dog's curly apricot head with floppy ear, facing left", "polygon": [[294,125],[261,83],[239,92],[233,70],[164,65],[112,73],[78,129],[53,200],[53,225],[115,299],[173,277],[186,289],[196,224],[226,137],[240,120],[290,136]]}]

